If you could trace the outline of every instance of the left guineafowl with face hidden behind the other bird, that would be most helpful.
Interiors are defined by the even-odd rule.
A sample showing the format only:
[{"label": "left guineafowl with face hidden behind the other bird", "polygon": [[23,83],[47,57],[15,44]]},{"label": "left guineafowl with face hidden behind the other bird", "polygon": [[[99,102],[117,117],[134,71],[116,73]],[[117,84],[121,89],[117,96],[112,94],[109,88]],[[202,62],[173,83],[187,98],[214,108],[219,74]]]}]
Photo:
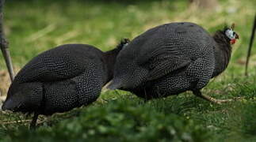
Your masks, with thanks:
[{"label": "left guineafowl with face hidden behind the other bird", "polygon": [[117,54],[127,44],[124,39],[107,52],[86,44],[66,44],[39,54],[17,73],[2,110],[34,113],[30,125],[34,128],[39,114],[93,103],[113,78]]}]

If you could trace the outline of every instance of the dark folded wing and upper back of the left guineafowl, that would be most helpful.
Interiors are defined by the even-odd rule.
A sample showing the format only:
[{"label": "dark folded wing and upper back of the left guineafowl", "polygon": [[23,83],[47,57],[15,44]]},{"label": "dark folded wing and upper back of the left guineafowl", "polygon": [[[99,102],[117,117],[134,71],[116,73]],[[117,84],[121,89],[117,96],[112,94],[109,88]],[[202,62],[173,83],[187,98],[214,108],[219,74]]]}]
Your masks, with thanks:
[{"label": "dark folded wing and upper back of the left guineafowl", "polygon": [[18,82],[52,81],[76,77],[91,62],[100,63],[101,51],[82,44],[67,44],[33,58],[19,73]]}]

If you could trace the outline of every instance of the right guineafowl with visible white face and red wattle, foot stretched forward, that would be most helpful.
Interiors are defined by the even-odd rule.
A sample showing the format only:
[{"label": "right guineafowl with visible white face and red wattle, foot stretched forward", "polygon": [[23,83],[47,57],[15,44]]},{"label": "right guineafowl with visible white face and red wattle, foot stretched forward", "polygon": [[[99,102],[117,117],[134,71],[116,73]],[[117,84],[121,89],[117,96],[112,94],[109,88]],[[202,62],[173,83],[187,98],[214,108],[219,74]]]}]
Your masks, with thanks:
[{"label": "right guineafowl with visible white face and red wattle, foot stretched forward", "polygon": [[230,101],[203,95],[201,88],[227,68],[231,44],[239,39],[233,28],[219,30],[214,36],[189,22],[151,28],[120,51],[108,88],[144,99],[192,91],[214,103]]}]

